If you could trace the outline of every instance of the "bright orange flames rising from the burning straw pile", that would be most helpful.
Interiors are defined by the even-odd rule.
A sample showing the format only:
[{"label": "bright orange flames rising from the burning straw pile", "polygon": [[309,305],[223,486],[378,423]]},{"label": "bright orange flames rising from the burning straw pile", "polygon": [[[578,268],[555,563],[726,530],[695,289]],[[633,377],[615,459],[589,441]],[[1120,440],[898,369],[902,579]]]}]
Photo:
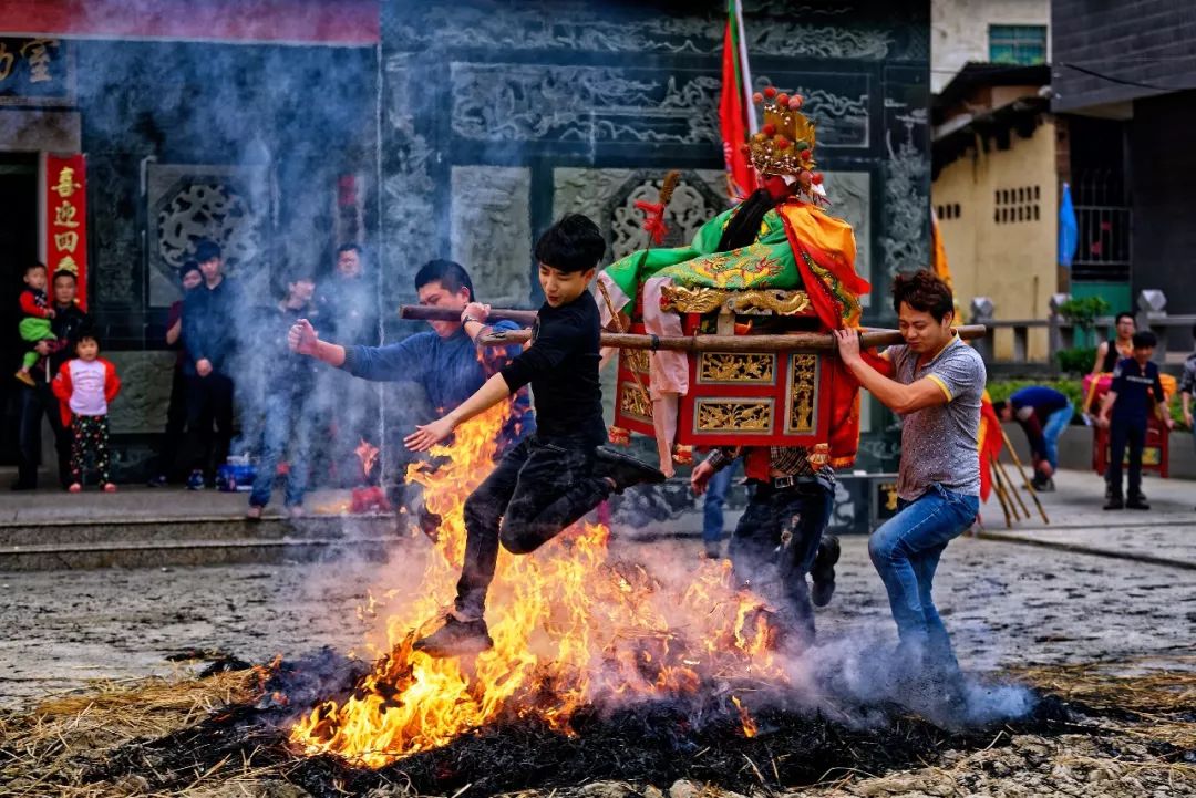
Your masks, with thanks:
[{"label": "bright orange flames rising from the burning straw pile", "polygon": [[[494,649],[476,659],[432,659],[411,643],[438,625],[454,595],[465,547],[465,498],[493,468],[506,409],[458,428],[447,462],[408,479],[443,517],[419,585],[392,590],[370,610],[388,614],[388,650],[344,702],[300,718],[291,741],[367,767],[441,747],[488,723],[538,718],[561,733],[582,706],[696,693],[703,682],[786,681],[768,647],[767,612],[731,585],[727,563],[702,561],[684,589],[637,563],[610,557],[610,533],[578,524],[527,557],[499,554],[487,607]],[[421,626],[422,625],[422,626]],[[744,733],[755,723],[733,699]]]}]

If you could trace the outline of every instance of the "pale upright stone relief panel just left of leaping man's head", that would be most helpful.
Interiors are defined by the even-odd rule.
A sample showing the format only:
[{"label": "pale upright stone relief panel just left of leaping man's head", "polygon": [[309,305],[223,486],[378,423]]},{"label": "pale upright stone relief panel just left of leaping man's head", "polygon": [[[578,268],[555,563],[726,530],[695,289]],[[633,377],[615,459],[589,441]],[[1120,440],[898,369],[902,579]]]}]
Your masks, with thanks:
[{"label": "pale upright stone relief panel just left of leaping man's head", "polygon": [[452,258],[482,301],[523,307],[531,293],[531,170],[452,168]]}]

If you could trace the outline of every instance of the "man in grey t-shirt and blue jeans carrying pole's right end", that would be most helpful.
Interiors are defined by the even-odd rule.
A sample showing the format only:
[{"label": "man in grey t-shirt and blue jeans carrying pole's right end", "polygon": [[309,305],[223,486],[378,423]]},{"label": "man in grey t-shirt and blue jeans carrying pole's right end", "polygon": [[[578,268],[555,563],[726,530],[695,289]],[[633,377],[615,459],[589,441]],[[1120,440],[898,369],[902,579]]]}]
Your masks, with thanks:
[{"label": "man in grey t-shirt and blue jeans carrying pole's right end", "polygon": [[872,395],[903,418],[899,510],[868,541],[901,637],[898,652],[930,695],[959,708],[962,675],[930,591],[939,558],[980,507],[977,431],[984,362],[951,329],[951,289],[929,271],[898,275],[893,309],[905,344],[886,350],[895,379],[860,356],[855,330],[836,332],[840,357]]}]

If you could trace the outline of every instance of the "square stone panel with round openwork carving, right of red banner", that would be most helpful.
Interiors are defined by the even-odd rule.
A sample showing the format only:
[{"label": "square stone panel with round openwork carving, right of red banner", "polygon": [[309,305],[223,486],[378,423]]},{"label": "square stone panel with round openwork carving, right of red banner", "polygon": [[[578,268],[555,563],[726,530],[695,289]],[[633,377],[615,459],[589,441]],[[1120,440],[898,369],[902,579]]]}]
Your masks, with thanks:
[{"label": "square stone panel with round openwork carving, right of red banner", "polygon": [[206,238],[224,251],[225,274],[268,281],[260,268],[269,240],[266,168],[150,164],[146,178],[151,307],[178,299],[178,268]]}]

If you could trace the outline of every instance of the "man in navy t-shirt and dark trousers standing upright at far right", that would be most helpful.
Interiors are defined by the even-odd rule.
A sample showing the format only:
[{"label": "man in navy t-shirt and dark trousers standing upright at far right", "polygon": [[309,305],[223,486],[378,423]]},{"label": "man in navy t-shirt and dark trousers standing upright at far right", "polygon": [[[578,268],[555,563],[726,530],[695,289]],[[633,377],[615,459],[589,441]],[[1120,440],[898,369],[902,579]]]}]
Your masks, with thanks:
[{"label": "man in navy t-shirt and dark trousers standing upright at far right", "polygon": [[[1154,413],[1170,430],[1173,426],[1163,395],[1159,367],[1151,361],[1158,339],[1153,332],[1134,333],[1134,355],[1122,358],[1113,368],[1113,383],[1100,405],[1097,424],[1109,428],[1109,501],[1106,510],[1149,510],[1142,496],[1142,447],[1146,444],[1146,419],[1154,399]],[[1110,411],[1111,421],[1110,421]],[[1122,460],[1129,444],[1129,501],[1122,501]]]}]

